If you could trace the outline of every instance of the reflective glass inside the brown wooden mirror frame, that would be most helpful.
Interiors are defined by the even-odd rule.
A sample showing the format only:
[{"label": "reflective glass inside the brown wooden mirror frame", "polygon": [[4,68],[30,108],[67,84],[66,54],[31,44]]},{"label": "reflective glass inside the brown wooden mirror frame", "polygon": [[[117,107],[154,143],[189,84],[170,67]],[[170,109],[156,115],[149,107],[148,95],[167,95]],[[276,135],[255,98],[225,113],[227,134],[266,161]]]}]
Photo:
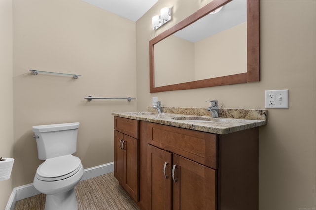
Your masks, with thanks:
[{"label": "reflective glass inside the brown wooden mirror frame", "polygon": [[247,72],[247,1],[221,8],[155,44],[155,86]]}]

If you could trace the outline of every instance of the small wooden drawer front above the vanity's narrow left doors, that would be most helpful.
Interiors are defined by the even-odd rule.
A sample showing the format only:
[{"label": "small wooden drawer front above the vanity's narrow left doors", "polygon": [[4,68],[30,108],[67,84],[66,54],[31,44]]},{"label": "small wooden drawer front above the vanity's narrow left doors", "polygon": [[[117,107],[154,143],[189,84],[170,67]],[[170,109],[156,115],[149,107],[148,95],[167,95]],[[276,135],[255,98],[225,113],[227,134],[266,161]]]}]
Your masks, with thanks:
[{"label": "small wooden drawer front above the vanity's narrow left doors", "polygon": [[114,117],[114,129],[128,136],[138,139],[138,120]]}]

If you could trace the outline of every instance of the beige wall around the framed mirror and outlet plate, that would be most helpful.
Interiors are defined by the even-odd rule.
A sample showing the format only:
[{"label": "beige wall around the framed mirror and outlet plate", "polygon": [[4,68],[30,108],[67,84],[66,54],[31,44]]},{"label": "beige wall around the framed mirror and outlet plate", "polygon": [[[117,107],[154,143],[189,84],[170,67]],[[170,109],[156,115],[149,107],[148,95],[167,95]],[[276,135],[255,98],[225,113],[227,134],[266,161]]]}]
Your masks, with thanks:
[{"label": "beige wall around the framed mirror and outlet plate", "polygon": [[[138,110],[158,96],[164,106],[264,108],[264,91],[289,89],[289,109],[269,109],[260,128],[260,210],[315,208],[315,0],[261,0],[261,81],[195,90],[149,93],[150,39],[208,0],[159,0],[136,23]],[[173,17],[154,31],[151,17],[172,7]]]}]

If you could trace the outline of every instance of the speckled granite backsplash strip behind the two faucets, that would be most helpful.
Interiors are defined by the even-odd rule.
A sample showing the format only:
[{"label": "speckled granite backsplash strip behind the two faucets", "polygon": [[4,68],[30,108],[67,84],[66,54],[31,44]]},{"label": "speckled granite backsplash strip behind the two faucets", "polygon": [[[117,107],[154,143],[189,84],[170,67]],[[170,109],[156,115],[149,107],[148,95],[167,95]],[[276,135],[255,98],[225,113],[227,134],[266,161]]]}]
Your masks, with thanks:
[{"label": "speckled granite backsplash strip behind the two faucets", "polygon": [[[148,107],[149,112],[157,112],[153,107]],[[193,108],[193,107],[162,107],[162,112],[182,114],[182,115],[199,115],[199,116],[212,116],[211,112],[206,108]],[[219,109],[220,118],[237,118],[248,120],[267,120],[266,109]]]}]

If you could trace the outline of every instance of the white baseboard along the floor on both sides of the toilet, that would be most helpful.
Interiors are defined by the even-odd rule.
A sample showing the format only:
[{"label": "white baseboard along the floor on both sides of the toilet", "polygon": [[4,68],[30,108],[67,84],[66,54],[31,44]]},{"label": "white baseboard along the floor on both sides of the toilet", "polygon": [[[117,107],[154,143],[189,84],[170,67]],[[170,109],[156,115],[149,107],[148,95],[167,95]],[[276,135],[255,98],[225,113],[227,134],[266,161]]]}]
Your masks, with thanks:
[{"label": "white baseboard along the floor on both sides of the toilet", "polygon": [[[83,177],[80,181],[91,179],[103,174],[107,174],[114,171],[114,162],[84,169]],[[40,192],[34,188],[33,183],[23,186],[15,187],[12,190],[5,210],[14,210],[16,201],[32,197],[40,194]]]}]

